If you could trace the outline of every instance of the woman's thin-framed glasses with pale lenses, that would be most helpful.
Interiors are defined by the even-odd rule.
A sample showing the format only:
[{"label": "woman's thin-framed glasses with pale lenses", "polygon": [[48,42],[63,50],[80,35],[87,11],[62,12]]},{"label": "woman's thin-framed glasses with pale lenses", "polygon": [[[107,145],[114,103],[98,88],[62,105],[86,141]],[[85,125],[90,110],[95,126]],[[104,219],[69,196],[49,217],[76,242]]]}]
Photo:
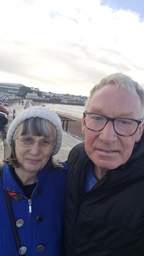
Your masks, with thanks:
[{"label": "woman's thin-framed glasses with pale lenses", "polygon": [[22,147],[32,147],[35,142],[38,142],[40,149],[42,150],[51,150],[55,147],[55,142],[48,139],[42,139],[42,140],[35,140],[32,136],[24,136],[20,135],[19,137],[15,137],[17,139],[17,142]]}]

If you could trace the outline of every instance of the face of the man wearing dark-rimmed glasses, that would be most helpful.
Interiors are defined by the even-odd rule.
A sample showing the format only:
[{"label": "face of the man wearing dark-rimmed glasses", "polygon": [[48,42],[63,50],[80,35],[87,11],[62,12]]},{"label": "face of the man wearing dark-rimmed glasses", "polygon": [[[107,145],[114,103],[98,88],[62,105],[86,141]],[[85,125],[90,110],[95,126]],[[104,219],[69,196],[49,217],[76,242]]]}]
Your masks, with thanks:
[{"label": "face of the man wearing dark-rimmed glasses", "polygon": [[[137,93],[116,89],[114,85],[106,85],[96,91],[88,104],[88,112],[102,114],[107,117],[127,117],[142,119],[142,107]],[[100,132],[89,130],[82,122],[85,137],[85,150],[94,164],[104,170],[112,170],[127,162],[135,142],[140,140],[143,125],[131,137],[117,135],[111,121]]]}]

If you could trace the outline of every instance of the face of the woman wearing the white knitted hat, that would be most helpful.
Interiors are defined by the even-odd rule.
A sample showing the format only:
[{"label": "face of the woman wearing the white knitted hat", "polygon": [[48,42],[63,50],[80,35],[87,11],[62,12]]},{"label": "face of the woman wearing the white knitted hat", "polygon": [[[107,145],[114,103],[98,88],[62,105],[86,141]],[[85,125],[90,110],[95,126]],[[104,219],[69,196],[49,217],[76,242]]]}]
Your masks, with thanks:
[{"label": "face of the woman wearing the white knitted hat", "polygon": [[[25,135],[21,135],[22,132],[22,124],[20,124],[19,129],[17,130],[16,137],[25,137]],[[27,135],[29,136],[29,134]],[[40,149],[40,145],[38,142],[42,139],[47,139],[43,136],[32,136],[35,140],[34,145],[31,147],[23,147],[19,144],[18,140],[16,139],[16,157],[20,164],[20,169],[27,171],[27,172],[35,172],[37,173],[47,164],[50,156],[53,153],[53,144],[48,145],[47,150]],[[52,140],[52,138],[50,138]]]}]

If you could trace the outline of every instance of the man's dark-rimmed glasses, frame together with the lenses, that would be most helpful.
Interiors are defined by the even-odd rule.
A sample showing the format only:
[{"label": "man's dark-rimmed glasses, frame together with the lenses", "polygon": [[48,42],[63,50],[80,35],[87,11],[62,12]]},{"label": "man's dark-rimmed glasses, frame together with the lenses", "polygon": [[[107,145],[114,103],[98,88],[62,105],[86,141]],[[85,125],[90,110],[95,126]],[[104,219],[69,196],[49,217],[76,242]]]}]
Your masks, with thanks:
[{"label": "man's dark-rimmed glasses, frame together with the lenses", "polygon": [[111,121],[114,126],[115,133],[120,136],[132,136],[137,132],[138,126],[143,120],[135,120],[130,118],[112,118],[91,112],[84,112],[84,124],[89,130],[100,132]]}]

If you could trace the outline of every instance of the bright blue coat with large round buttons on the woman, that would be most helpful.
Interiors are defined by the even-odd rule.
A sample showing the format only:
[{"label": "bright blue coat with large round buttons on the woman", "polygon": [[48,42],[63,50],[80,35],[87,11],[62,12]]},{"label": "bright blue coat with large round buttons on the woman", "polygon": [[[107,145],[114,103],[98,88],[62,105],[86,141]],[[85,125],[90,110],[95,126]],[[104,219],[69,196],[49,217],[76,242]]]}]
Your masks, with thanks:
[{"label": "bright blue coat with large round buttons on the woman", "polygon": [[[11,198],[14,218],[21,245],[27,247],[25,256],[63,256],[63,215],[65,208],[67,170],[38,172],[37,185],[30,199],[4,165],[4,188],[0,178],[0,255],[18,256],[4,190],[20,194],[18,201]],[[19,225],[20,223],[20,225]],[[38,252],[39,251],[39,252]]]}]

